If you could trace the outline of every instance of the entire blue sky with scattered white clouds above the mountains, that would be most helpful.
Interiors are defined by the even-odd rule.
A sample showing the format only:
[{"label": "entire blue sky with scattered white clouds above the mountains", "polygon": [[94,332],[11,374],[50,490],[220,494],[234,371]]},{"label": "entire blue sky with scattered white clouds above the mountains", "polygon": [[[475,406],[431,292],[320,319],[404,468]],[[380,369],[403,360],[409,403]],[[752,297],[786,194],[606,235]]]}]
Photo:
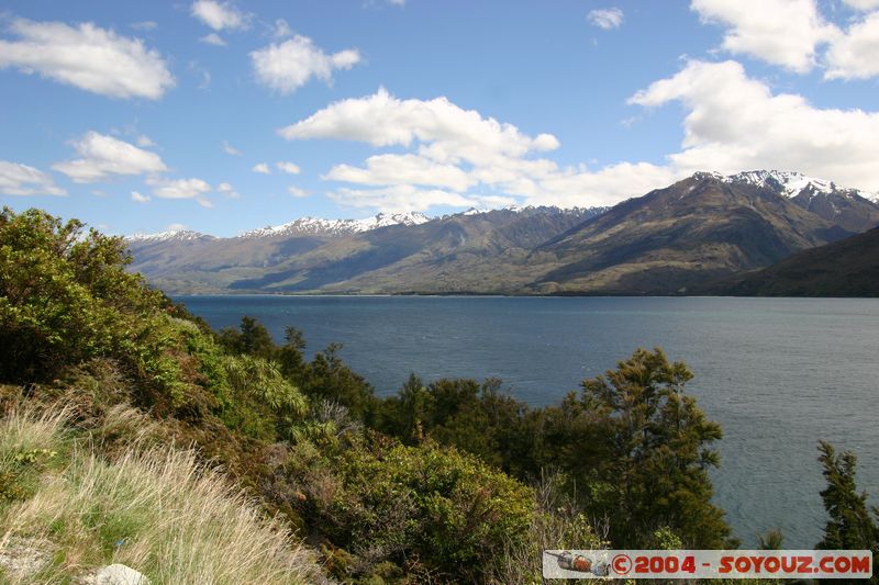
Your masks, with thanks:
[{"label": "entire blue sky with scattered white clouds above the mountains", "polygon": [[879,0],[5,1],[0,203],[115,234],[879,191]]}]

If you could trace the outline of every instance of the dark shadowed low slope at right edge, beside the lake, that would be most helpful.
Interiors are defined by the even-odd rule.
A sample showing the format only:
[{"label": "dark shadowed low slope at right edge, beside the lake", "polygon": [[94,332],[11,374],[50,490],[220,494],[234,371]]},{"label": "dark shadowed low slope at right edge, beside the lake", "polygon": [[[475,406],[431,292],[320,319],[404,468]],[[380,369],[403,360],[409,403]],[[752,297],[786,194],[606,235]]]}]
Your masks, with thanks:
[{"label": "dark shadowed low slope at right edge, beside the lake", "polygon": [[739,296],[879,296],[879,227],[703,288]]}]

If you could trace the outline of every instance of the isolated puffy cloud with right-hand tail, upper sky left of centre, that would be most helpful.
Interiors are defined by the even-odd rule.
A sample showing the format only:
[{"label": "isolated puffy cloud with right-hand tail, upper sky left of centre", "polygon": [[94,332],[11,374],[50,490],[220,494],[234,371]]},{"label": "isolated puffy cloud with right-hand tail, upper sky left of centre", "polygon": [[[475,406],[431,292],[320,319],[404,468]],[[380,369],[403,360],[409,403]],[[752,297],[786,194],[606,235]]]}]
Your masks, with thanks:
[{"label": "isolated puffy cloud with right-hand tail, upper sky left of centre", "polygon": [[327,55],[311,38],[296,35],[280,44],[271,44],[251,53],[256,79],[266,87],[288,94],[316,77],[325,82],[336,69],[351,69],[360,63],[357,49]]}]

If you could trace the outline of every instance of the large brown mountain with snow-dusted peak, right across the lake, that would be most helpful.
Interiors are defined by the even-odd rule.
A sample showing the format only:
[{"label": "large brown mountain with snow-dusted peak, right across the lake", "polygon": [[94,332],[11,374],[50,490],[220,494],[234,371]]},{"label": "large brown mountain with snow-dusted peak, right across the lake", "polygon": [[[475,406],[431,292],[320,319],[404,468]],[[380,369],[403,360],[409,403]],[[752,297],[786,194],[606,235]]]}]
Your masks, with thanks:
[{"label": "large brown mountain with snow-dusted peak, right across the lake", "polygon": [[535,293],[676,294],[850,235],[778,184],[697,173],[542,245]]}]

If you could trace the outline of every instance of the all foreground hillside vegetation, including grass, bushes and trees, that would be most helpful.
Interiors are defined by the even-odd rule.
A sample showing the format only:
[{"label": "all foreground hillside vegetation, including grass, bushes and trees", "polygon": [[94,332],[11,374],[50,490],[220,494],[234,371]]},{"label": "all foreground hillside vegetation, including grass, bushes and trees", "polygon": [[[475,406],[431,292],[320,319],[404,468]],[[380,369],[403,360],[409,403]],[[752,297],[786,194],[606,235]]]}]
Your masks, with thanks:
[{"label": "all foreground hillside vegetation, including grass, bushes and trees", "polygon": [[[659,349],[545,408],[492,380],[379,398],[293,327],[212,331],[123,250],[0,214],[4,581],[122,562],[158,584],[539,583],[544,548],[735,545],[711,503],[721,428]],[[822,460],[826,543],[876,548],[847,458]]]}]

